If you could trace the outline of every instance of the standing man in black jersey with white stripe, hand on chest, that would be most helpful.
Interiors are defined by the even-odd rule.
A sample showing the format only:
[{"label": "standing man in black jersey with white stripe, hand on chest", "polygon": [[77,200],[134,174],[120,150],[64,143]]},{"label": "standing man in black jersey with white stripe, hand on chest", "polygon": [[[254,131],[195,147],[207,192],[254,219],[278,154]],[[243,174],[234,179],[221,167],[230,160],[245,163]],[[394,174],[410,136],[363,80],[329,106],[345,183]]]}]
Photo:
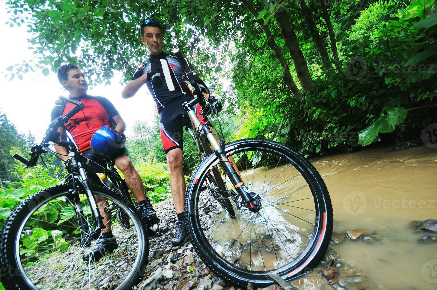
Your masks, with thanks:
[{"label": "standing man in black jersey with white stripe, hand on chest", "polygon": [[[170,169],[170,188],[177,214],[176,234],[172,239],[174,246],[187,241],[184,226],[185,179],[182,168],[182,104],[193,99],[182,68],[176,57],[163,52],[162,30],[156,20],[146,20],[141,24],[141,41],[146,45],[150,59],[137,69],[132,79],[123,89],[123,98],[130,98],[146,84],[156,102],[160,114],[160,134],[164,152]],[[210,103],[217,100],[205,96]],[[202,124],[210,123],[201,114],[201,107],[195,107]]]}]

